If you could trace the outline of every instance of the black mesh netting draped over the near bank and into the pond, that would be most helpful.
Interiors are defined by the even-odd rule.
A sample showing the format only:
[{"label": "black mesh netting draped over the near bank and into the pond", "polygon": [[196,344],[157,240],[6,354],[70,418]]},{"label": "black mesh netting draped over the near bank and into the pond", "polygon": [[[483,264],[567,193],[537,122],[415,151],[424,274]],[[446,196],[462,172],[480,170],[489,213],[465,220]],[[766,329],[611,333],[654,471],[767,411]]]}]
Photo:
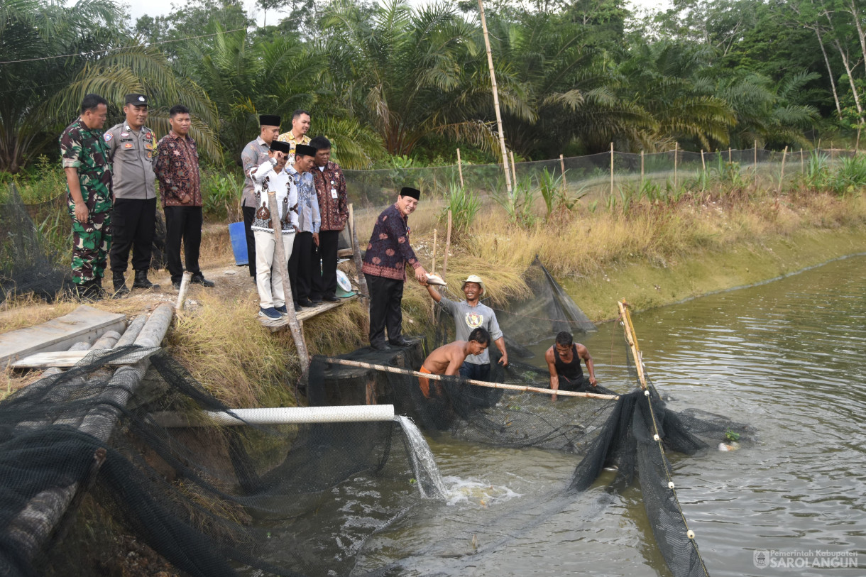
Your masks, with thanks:
[{"label": "black mesh netting draped over the near bank and into the pond", "polygon": [[[540,291],[538,298],[560,298],[560,291]],[[545,307],[539,310],[555,309]],[[516,303],[509,310],[522,314]],[[573,326],[554,319],[539,334],[558,322]],[[525,361],[503,367],[495,350],[490,380],[513,388],[422,375],[430,379],[425,394],[414,371],[427,352],[419,339],[415,347],[317,357],[300,384],[310,405],[388,401],[408,417],[268,426],[206,421],[205,411],[235,413],[165,353],[135,347],[92,353],[0,404],[0,564],[10,575],[87,574],[45,554],[52,541],[44,528],[62,526],[52,511],[69,501],[74,509],[74,495],[89,489],[115,522],[184,574],[365,574],[356,563],[370,554],[368,541],[423,515],[423,503],[443,496],[414,419],[428,435],[573,454],[571,480],[563,479],[570,499],[581,498],[605,467],[618,468],[617,486],[637,476],[673,574],[707,573],[669,487],[665,451],[694,454],[730,431],[745,440],[747,427],[670,411],[651,383],[649,394],[626,392],[637,381],[614,385],[619,392],[584,384],[577,392],[597,396],[560,392],[553,401],[530,388],[548,386],[546,368]],[[149,354],[149,361],[106,368],[110,360]],[[152,369],[145,373],[147,362]],[[208,425],[172,427],[164,414]],[[377,498],[362,505],[359,496],[371,493]],[[394,574],[393,564],[385,565],[376,574]]]}]

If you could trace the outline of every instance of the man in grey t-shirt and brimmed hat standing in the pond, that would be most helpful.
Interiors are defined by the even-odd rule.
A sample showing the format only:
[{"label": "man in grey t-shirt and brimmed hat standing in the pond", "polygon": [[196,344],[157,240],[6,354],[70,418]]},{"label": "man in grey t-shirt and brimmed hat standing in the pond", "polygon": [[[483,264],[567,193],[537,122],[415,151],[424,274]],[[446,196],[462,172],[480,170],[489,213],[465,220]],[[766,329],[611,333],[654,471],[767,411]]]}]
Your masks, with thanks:
[{"label": "man in grey t-shirt and brimmed hat standing in the pond", "polygon": [[[439,291],[429,284],[427,285],[427,291],[434,301],[438,302],[446,312],[454,317],[454,324],[456,326],[455,340],[469,340],[469,334],[475,328],[484,327],[502,355],[499,364],[507,366],[508,353],[505,350],[505,339],[502,338],[502,331],[499,323],[496,321],[496,314],[492,308],[479,302],[479,299],[487,292],[480,276],[470,275],[463,281],[463,295],[466,295],[466,300],[464,301],[451,301],[440,295]],[[460,375],[467,379],[489,381],[490,353],[485,349],[481,354],[470,354],[467,356],[460,367]]]}]

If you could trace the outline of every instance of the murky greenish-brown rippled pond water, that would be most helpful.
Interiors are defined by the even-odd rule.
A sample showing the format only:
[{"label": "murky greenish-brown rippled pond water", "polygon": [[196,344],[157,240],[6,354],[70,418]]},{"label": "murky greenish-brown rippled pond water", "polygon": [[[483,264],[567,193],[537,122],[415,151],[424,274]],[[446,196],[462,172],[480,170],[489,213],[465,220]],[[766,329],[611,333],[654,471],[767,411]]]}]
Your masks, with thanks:
[{"label": "murky greenish-brown rippled pond water", "polygon": [[[611,295],[612,309],[618,296],[628,297]],[[634,314],[633,321],[669,408],[700,408],[758,431],[757,442],[739,451],[669,455],[709,573],[866,574],[866,257]],[[601,384],[633,388],[618,323],[582,342]],[[446,500],[383,522],[352,550],[357,558],[335,563],[330,574],[381,567],[395,575],[669,574],[637,485],[611,491],[608,473],[570,495],[573,455],[448,435],[428,440]],[[334,492],[347,499],[333,504],[335,534],[351,534],[358,519],[340,511],[372,515],[391,490],[361,489]],[[762,551],[769,553],[758,561],[768,567],[756,565]],[[821,555],[836,567],[812,567]]]}]

